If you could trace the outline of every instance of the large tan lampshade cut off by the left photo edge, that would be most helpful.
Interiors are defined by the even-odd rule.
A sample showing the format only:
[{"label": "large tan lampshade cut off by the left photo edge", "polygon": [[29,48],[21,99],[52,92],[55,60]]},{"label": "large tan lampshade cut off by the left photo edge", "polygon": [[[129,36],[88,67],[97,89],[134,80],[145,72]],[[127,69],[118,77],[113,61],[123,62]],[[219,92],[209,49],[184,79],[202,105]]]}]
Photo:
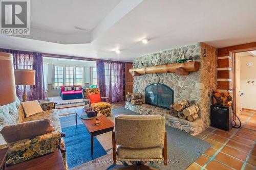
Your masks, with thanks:
[{"label": "large tan lampshade cut off by the left photo edge", "polygon": [[16,100],[12,54],[0,52],[0,106]]}]

